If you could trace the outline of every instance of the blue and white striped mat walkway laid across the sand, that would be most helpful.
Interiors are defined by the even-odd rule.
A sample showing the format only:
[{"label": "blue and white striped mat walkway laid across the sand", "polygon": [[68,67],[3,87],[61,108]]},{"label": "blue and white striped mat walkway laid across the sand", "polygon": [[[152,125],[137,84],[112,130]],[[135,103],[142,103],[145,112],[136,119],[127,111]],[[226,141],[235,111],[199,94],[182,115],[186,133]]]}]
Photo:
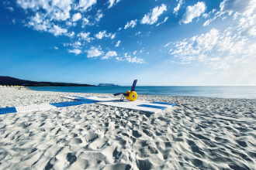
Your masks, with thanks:
[{"label": "blue and white striped mat walkway laid across the sand", "polygon": [[73,96],[73,97],[64,97],[74,101],[64,101],[59,103],[50,103],[50,104],[39,104],[39,105],[29,105],[29,106],[19,106],[19,107],[5,107],[0,108],[0,114],[11,114],[18,112],[28,112],[28,111],[39,111],[39,110],[50,110],[57,107],[71,107],[78,106],[81,104],[102,104],[112,107],[121,107],[131,110],[140,110],[150,113],[157,113],[163,110],[172,109],[176,104],[170,104],[168,102],[161,101],[145,101],[145,100],[119,100],[115,97],[92,97],[92,96]]}]

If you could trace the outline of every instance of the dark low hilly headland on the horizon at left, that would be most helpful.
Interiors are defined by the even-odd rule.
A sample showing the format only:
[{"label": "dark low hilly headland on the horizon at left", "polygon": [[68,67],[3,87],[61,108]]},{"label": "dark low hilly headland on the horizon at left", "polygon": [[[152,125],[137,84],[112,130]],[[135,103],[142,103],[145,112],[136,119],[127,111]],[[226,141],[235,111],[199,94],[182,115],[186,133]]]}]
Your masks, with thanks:
[{"label": "dark low hilly headland on the horizon at left", "polygon": [[56,82],[20,80],[12,76],[0,76],[0,85],[24,86],[24,87],[95,87],[94,85],[81,84],[81,83],[56,83]]}]

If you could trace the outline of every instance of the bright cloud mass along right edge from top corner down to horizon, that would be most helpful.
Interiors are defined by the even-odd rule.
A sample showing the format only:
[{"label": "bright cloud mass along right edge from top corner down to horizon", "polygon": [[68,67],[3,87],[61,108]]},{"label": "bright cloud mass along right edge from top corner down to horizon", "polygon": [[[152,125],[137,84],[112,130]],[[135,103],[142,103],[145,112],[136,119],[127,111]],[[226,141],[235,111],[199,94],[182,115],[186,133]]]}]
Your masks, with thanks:
[{"label": "bright cloud mass along right edge from top corner down to horizon", "polygon": [[[256,5],[254,0],[224,0],[220,11],[213,11],[213,20],[223,28],[170,42],[166,45],[171,56],[181,63],[202,63],[216,74],[221,83],[255,84],[256,70]],[[230,18],[232,20],[230,20]],[[218,20],[220,19],[220,20]],[[227,24],[225,23],[226,20]],[[215,80],[216,81],[216,80]]]}]

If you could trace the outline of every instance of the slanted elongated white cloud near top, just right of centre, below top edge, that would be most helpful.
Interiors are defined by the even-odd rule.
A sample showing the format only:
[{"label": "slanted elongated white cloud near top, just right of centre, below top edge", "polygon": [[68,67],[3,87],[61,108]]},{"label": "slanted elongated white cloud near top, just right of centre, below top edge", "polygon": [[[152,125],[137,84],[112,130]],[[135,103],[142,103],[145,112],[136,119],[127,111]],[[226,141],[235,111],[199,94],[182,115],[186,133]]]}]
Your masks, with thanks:
[{"label": "slanted elongated white cloud near top, just right of centre, below top edge", "polygon": [[141,24],[149,24],[152,25],[155,22],[157,22],[158,17],[162,15],[164,11],[167,11],[166,5],[162,4],[161,6],[157,6],[153,8],[153,10],[150,13],[147,13],[144,15],[143,19],[141,19]]}]

